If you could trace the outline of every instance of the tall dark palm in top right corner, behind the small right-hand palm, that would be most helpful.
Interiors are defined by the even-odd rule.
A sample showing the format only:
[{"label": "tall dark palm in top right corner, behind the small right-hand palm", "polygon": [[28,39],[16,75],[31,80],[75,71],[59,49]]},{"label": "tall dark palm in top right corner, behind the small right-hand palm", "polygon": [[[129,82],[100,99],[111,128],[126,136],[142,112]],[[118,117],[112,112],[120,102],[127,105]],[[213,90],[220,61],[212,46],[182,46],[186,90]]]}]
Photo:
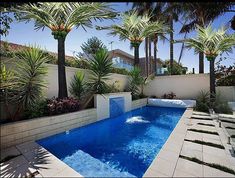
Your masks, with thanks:
[{"label": "tall dark palm in top right corner, behind the small right-hand palm", "polygon": [[[195,29],[196,25],[205,27],[228,11],[232,5],[232,2],[184,3],[182,12],[189,23],[182,27],[180,33],[190,32]],[[204,73],[204,55],[202,52],[199,52],[199,73]]]}]

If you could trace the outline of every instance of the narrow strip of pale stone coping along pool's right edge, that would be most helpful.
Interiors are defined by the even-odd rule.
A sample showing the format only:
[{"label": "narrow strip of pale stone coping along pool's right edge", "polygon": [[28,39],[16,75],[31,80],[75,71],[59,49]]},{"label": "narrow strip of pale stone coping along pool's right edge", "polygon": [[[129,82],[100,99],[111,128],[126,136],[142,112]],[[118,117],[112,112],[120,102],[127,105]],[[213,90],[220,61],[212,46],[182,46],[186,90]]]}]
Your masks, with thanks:
[{"label": "narrow strip of pale stone coping along pool's right edge", "polygon": [[172,177],[187,133],[193,108],[187,108],[143,177]]}]

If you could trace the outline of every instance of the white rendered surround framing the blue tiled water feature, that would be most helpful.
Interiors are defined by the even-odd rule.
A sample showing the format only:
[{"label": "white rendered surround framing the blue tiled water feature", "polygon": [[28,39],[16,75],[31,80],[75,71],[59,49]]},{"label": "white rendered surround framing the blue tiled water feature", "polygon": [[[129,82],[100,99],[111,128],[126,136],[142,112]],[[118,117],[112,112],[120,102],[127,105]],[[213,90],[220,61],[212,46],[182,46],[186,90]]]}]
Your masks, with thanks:
[{"label": "white rendered surround framing the blue tiled water feature", "polygon": [[95,95],[95,107],[97,109],[98,120],[109,118],[109,99],[115,97],[124,97],[125,112],[130,111],[132,108],[131,92],[109,93],[105,95]]}]

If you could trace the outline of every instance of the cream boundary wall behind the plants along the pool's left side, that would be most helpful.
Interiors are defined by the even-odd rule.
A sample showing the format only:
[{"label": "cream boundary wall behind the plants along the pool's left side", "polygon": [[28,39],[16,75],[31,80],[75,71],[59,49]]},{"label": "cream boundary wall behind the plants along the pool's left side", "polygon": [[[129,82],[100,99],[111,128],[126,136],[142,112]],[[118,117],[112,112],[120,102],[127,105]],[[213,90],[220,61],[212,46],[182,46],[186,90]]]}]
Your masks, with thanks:
[{"label": "cream boundary wall behind the plants along the pool's left side", "polygon": [[[45,80],[48,85],[47,85],[47,89],[45,89],[45,96],[48,98],[52,98],[53,96],[57,97],[58,95],[58,67],[57,65],[53,65],[53,64],[47,64],[47,66],[48,66],[48,74]],[[68,93],[69,93],[70,82],[74,74],[76,73],[76,71],[84,72],[85,79],[87,79],[90,74],[90,71],[86,69],[66,67],[66,81],[67,81]],[[121,75],[121,74],[111,74],[109,76],[109,80],[107,81],[107,83],[112,84],[115,81],[119,81],[118,85],[116,86],[119,86],[119,89],[123,91],[124,88],[128,84],[128,76]]]}]

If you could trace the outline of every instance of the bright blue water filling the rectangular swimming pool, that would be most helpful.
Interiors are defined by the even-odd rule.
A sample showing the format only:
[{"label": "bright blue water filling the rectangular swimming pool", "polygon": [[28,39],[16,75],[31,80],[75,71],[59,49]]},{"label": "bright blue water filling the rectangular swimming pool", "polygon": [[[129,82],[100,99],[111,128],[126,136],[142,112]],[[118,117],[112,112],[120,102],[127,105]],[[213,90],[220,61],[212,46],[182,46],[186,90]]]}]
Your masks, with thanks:
[{"label": "bright blue water filling the rectangular swimming pool", "polygon": [[184,111],[146,106],[37,142],[85,177],[142,177]]}]

